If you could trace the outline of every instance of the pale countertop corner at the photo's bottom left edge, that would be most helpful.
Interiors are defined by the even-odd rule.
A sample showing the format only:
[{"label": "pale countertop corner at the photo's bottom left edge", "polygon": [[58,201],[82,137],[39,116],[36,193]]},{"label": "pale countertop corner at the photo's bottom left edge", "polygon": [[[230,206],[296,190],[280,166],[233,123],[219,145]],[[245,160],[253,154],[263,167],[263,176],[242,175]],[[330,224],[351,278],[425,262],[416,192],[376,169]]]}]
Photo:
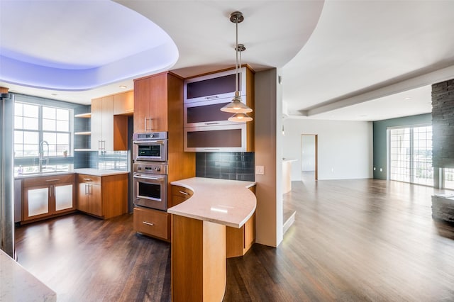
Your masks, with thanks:
[{"label": "pale countertop corner at the photo's bottom left edge", "polygon": [[57,301],[57,294],[0,250],[0,301]]}]

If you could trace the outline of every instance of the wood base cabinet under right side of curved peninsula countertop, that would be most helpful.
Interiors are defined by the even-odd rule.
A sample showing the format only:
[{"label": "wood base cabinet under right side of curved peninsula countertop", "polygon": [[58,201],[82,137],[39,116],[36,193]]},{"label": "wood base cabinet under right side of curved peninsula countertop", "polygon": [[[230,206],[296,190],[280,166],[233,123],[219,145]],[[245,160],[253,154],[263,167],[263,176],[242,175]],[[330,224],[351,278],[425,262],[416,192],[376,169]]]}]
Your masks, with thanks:
[{"label": "wood base cabinet under right side of curved peninsula countertop", "polygon": [[[255,186],[250,191],[255,194]],[[255,242],[255,213],[241,228],[226,227],[226,257],[240,257],[253,246]]]}]

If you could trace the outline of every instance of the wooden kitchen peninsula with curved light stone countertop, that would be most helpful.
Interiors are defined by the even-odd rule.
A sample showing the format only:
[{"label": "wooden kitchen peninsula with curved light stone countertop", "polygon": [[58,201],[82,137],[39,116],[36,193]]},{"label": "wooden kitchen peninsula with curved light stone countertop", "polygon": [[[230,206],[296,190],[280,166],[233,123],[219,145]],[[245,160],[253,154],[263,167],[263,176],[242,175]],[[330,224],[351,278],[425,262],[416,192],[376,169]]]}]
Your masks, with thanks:
[{"label": "wooden kitchen peninsula with curved light stone countertop", "polygon": [[193,195],[172,213],[173,301],[222,301],[226,289],[226,227],[254,214],[253,181],[193,177],[172,181]]}]

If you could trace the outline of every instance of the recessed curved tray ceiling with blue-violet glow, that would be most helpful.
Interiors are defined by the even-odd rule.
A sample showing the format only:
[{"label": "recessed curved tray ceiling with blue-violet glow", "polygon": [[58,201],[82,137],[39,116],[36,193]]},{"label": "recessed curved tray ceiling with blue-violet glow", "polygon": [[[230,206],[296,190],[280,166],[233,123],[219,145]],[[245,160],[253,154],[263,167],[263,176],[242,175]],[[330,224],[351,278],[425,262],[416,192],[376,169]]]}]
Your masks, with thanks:
[{"label": "recessed curved tray ceiling with blue-violet glow", "polygon": [[0,81],[82,91],[170,69],[164,30],[110,0],[0,1]]}]

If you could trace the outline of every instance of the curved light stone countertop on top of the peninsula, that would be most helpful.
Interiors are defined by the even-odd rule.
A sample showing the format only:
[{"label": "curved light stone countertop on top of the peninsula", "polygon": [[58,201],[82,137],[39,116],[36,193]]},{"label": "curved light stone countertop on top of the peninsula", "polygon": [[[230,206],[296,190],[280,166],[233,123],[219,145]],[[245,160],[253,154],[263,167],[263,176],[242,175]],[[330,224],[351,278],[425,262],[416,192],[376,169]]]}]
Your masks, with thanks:
[{"label": "curved light stone countertop on top of the peninsula", "polygon": [[253,215],[257,198],[248,188],[254,181],[235,181],[193,177],[172,181],[194,192],[187,201],[168,208],[167,212],[188,218],[211,221],[241,228]]}]

